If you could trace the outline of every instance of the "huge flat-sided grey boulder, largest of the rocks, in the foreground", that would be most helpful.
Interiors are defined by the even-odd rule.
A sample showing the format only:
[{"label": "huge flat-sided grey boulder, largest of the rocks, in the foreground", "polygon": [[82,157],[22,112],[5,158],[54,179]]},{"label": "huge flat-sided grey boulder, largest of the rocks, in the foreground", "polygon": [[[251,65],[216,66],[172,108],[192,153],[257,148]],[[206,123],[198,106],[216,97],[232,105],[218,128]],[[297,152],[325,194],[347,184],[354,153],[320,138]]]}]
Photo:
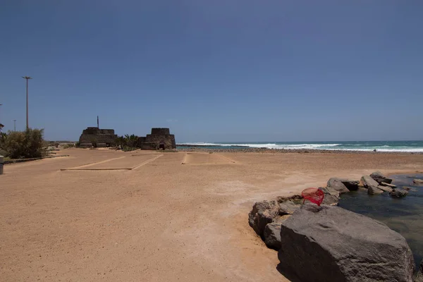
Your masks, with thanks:
[{"label": "huge flat-sided grey boulder, largest of the rocks, in the foreground", "polygon": [[281,225],[284,274],[304,282],[412,281],[414,261],[403,236],[340,207],[305,206]]}]

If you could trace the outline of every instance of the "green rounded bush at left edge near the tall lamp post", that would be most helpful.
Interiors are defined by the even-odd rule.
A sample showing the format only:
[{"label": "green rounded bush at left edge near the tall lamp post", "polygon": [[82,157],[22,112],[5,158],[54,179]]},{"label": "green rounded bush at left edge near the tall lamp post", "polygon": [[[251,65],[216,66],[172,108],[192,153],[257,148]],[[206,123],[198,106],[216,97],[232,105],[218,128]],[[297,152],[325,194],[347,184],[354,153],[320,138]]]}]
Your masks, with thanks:
[{"label": "green rounded bush at left edge near the tall lamp post", "polygon": [[12,159],[38,158],[45,154],[42,129],[9,131],[1,149]]}]

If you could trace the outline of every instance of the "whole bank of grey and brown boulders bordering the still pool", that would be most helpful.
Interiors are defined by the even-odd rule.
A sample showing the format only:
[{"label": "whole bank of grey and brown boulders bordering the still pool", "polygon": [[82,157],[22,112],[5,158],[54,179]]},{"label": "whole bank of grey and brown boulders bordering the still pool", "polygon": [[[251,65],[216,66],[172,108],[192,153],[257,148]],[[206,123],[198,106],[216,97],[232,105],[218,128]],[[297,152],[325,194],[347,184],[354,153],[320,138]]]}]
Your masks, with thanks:
[{"label": "whole bank of grey and brown boulders bordering the still pool", "polygon": [[[416,179],[413,185],[423,181]],[[401,198],[407,189],[396,188],[379,171],[360,180],[330,178],[326,187],[309,189],[323,192],[321,205],[304,203],[305,190],[304,197],[256,202],[248,216],[266,246],[278,251],[278,269],[284,275],[300,281],[423,281],[423,261],[415,274],[412,252],[402,235],[384,223],[337,207],[340,194],[352,190]]]}]

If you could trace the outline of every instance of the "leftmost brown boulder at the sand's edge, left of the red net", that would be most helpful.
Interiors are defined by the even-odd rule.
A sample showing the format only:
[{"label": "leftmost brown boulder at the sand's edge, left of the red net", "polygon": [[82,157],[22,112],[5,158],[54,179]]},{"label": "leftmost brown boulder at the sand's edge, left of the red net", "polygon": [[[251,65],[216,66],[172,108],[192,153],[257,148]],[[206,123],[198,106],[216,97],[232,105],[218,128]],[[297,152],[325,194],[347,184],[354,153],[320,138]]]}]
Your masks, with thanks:
[{"label": "leftmost brown boulder at the sand's edge, left of the red net", "polygon": [[267,223],[278,216],[279,206],[276,201],[256,202],[248,214],[248,223],[259,236],[263,236]]}]

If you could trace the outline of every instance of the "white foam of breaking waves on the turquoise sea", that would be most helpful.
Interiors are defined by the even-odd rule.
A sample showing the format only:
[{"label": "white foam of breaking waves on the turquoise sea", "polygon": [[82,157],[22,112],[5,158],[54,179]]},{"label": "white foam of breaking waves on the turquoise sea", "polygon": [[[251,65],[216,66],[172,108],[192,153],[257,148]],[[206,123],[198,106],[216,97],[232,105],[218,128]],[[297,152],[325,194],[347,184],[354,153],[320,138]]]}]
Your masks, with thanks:
[{"label": "white foam of breaking waves on the turquoise sea", "polygon": [[186,142],[180,143],[180,145],[195,145],[195,146],[216,146],[216,147],[250,147],[250,148],[268,148],[268,149],[324,149],[324,150],[335,150],[335,151],[359,151],[359,152],[372,152],[374,149],[378,152],[423,152],[422,147],[391,147],[389,145],[383,145],[378,147],[371,146],[357,146],[342,144],[252,144],[252,143],[238,143],[238,144],[224,144],[224,143],[212,143],[212,142]]}]

